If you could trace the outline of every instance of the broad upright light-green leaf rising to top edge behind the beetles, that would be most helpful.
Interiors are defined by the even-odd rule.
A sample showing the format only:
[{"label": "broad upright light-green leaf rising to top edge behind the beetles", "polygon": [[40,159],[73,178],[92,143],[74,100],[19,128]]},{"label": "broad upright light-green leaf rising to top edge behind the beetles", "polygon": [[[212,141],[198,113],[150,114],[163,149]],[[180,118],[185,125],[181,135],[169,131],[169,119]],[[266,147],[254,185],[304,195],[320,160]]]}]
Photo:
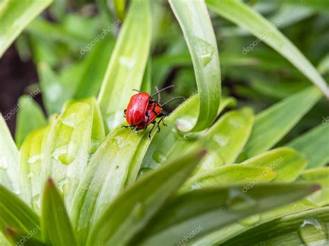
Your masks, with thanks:
[{"label": "broad upright light-green leaf rising to top edge behind the beetles", "polygon": [[110,130],[124,120],[122,112],[133,94],[131,89],[140,89],[142,85],[150,44],[149,0],[133,0],[115,44],[98,98],[101,112]]}]

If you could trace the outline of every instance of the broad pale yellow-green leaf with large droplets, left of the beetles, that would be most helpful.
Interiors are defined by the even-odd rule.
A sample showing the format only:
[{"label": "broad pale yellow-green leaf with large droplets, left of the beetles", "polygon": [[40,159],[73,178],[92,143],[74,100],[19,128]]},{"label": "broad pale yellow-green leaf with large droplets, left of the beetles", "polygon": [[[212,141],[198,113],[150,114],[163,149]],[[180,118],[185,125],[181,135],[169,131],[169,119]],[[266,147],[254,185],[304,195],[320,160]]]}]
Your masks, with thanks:
[{"label": "broad pale yellow-green leaf with large droplets, left of the beetles", "polygon": [[70,105],[51,128],[44,152],[42,182],[51,177],[68,208],[87,167],[93,112],[93,107],[87,103]]}]

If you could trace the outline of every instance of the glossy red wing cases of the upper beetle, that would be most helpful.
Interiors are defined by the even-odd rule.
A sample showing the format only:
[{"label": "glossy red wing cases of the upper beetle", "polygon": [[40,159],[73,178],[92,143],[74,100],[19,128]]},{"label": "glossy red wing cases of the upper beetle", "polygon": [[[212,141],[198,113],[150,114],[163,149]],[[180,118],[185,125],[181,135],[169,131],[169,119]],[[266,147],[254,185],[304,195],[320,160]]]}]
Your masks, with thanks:
[{"label": "glossy red wing cases of the upper beetle", "polygon": [[125,111],[126,121],[129,125],[138,125],[144,121],[149,100],[150,95],[146,92],[140,92],[131,96]]}]

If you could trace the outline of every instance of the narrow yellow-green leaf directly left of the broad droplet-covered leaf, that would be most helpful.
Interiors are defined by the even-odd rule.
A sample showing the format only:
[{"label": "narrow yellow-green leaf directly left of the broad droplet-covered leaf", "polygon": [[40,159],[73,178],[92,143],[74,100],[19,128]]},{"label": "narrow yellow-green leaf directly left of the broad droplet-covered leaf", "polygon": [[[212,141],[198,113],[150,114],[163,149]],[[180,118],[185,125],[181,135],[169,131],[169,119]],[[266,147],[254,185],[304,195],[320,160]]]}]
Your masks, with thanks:
[{"label": "narrow yellow-green leaf directly left of the broad droplet-covered leaf", "polygon": [[42,155],[51,125],[28,134],[19,152],[19,185],[22,199],[34,211],[40,211]]}]

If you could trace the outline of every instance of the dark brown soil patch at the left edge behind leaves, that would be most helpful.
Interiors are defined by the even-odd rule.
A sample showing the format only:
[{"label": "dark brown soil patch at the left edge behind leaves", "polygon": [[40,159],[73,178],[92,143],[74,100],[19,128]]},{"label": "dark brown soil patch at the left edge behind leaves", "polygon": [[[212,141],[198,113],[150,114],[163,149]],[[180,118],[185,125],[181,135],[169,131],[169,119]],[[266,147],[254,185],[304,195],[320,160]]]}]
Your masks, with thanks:
[{"label": "dark brown soil patch at the left edge behind leaves", "polygon": [[[23,62],[15,49],[10,49],[0,58],[0,112],[3,116],[12,110],[22,94],[26,94],[26,87],[38,81],[37,70],[32,60]],[[41,103],[41,95],[35,96]],[[7,124],[12,135],[15,132],[16,115],[12,116]]]}]

